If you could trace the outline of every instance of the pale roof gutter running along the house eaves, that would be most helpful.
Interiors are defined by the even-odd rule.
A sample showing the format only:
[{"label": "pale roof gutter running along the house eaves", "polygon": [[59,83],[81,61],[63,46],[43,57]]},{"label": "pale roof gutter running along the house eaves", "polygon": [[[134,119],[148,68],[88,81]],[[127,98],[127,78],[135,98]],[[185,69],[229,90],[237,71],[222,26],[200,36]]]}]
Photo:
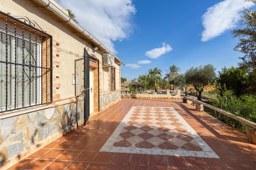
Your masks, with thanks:
[{"label": "pale roof gutter running along the house eaves", "polygon": [[60,10],[60,8],[55,6],[49,0],[34,0],[34,1],[39,2],[42,5],[42,7],[47,8],[47,10],[50,10],[55,15],[59,16],[63,21],[67,22],[69,25],[71,25],[71,27],[75,28],[79,33],[82,33],[82,35],[84,35],[86,38],[93,41],[94,44],[96,44],[97,46],[102,48],[106,53],[109,53],[109,54],[115,56],[116,60],[118,60],[125,66],[125,64],[115,54],[113,54],[107,47],[105,47],[103,44],[101,44],[95,37],[93,37],[83,27],[81,27],[75,21],[71,20],[66,13],[64,13],[62,10]]}]

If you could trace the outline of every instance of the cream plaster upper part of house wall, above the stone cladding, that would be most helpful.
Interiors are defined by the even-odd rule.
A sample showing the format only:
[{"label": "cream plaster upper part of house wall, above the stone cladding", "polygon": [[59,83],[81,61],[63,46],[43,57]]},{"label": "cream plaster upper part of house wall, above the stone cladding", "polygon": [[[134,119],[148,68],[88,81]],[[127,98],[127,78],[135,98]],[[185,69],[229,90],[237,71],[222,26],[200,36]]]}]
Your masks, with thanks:
[{"label": "cream plaster upper part of house wall, above the stone cladding", "polygon": [[[84,54],[84,47],[89,46],[87,52],[94,54],[100,61],[100,92],[105,94],[109,91],[109,74],[108,69],[102,69],[102,56],[100,50],[92,51],[91,43],[81,38],[73,28],[70,28],[64,21],[57,18],[51,12],[36,5],[30,1],[1,1],[0,11],[4,13],[11,13],[13,16],[27,16],[30,20],[34,20],[47,33],[52,35],[53,40],[60,43],[60,88],[58,89],[60,98],[73,97],[75,95],[75,88],[72,84],[72,75],[74,73],[74,60],[82,58]],[[116,78],[118,78],[118,69],[120,65],[115,64]],[[56,68],[53,67],[53,72]],[[118,80],[116,80],[116,87],[118,87]]]}]

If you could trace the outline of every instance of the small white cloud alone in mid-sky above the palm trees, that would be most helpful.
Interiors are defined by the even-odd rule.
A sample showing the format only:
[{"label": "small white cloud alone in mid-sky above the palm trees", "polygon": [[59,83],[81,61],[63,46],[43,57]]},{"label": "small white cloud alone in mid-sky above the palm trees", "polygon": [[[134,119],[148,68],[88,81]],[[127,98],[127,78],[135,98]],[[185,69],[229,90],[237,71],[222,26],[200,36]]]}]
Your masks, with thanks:
[{"label": "small white cloud alone in mid-sky above the palm trees", "polygon": [[166,54],[172,50],[172,47],[168,44],[163,43],[163,47],[154,48],[145,53],[149,58],[158,58],[163,54]]}]

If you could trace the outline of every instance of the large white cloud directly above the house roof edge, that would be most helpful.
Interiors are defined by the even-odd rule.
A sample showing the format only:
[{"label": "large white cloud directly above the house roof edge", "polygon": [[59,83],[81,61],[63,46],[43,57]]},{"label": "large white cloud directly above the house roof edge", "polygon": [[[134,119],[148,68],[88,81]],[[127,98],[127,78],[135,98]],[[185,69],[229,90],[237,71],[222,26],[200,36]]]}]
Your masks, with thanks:
[{"label": "large white cloud directly above the house roof edge", "polygon": [[136,9],[132,0],[59,0],[70,9],[79,24],[113,53],[113,41],[122,40],[133,31],[131,17]]}]

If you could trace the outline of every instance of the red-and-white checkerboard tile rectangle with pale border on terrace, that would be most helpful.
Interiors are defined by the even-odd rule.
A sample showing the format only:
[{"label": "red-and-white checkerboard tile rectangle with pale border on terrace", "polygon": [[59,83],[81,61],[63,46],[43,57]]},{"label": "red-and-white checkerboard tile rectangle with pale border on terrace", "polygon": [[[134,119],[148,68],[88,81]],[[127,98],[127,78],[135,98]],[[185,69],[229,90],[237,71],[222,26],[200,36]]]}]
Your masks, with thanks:
[{"label": "red-and-white checkerboard tile rectangle with pale border on terrace", "polygon": [[100,151],[219,158],[172,107],[132,107]]}]

